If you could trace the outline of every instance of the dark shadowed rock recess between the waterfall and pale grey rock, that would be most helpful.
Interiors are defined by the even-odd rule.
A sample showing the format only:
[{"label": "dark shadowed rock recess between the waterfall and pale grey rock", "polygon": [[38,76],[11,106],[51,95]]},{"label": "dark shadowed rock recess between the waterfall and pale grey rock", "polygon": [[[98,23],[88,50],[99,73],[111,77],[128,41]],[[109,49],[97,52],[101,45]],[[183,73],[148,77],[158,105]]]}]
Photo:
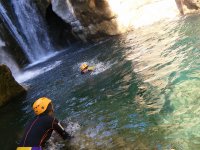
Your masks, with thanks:
[{"label": "dark shadowed rock recess between the waterfall and pale grey rock", "polygon": [[[63,49],[78,40],[76,35],[72,33],[71,25],[67,21],[64,21],[63,17],[58,16],[53,11],[53,9],[55,9],[54,7],[59,7],[61,11],[67,10],[65,8],[67,5],[63,5],[65,0],[36,0],[35,2],[41,15],[45,18],[49,36],[57,50]],[[53,9],[51,2],[55,4]],[[63,7],[64,9],[62,9]],[[69,14],[69,12],[65,14]],[[69,16],[66,15],[66,18],[68,17]]]}]

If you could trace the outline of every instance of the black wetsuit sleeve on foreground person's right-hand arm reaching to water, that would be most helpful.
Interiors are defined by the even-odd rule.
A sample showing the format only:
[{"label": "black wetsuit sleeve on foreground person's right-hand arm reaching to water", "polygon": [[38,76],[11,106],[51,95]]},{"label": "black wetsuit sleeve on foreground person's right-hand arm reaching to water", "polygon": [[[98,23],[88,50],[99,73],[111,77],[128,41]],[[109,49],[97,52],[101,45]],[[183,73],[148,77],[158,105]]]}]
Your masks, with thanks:
[{"label": "black wetsuit sleeve on foreground person's right-hand arm reaching to water", "polygon": [[64,139],[64,140],[70,140],[72,137],[69,133],[65,131],[63,126],[58,122],[57,119],[54,119],[53,121],[53,129]]}]

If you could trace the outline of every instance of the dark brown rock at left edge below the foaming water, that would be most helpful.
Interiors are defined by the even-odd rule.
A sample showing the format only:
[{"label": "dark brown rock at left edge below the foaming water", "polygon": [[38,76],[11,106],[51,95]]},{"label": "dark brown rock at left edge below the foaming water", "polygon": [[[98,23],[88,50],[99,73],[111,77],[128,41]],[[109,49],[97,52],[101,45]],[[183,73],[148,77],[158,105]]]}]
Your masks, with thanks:
[{"label": "dark brown rock at left edge below the foaming water", "polygon": [[6,65],[0,65],[0,106],[25,92],[26,90],[15,81],[10,69]]}]

